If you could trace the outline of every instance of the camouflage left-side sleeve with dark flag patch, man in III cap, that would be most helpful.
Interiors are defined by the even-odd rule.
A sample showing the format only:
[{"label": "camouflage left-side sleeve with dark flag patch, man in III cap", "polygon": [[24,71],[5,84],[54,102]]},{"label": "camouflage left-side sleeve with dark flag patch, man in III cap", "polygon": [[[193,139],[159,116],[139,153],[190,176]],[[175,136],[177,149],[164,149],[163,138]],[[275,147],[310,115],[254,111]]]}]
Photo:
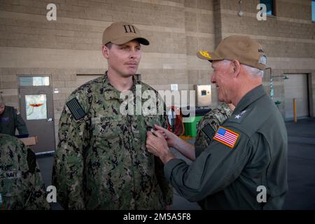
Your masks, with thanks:
[{"label": "camouflage left-side sleeve with dark flag patch, man in III cap", "polygon": [[[87,111],[83,97],[76,98],[83,111]],[[74,99],[74,96],[69,99]],[[64,209],[85,209],[83,153],[90,139],[90,119],[85,113],[83,118],[76,120],[76,115],[72,113],[65,105],[59,120],[59,143],[52,169],[52,184],[57,188],[57,202]]]}]

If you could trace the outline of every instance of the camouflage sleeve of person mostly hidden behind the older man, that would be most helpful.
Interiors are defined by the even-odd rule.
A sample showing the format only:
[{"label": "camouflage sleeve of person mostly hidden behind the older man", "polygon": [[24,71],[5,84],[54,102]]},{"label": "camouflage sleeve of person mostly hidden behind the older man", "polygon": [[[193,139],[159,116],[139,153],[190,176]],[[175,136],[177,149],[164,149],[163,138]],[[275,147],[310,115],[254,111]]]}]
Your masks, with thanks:
[{"label": "camouflage sleeve of person mostly hidden behind the older man", "polygon": [[[228,104],[221,103],[216,109],[207,113],[198,125],[195,146],[209,146],[216,130],[227,120],[232,114]],[[209,124],[209,125],[208,125]]]}]

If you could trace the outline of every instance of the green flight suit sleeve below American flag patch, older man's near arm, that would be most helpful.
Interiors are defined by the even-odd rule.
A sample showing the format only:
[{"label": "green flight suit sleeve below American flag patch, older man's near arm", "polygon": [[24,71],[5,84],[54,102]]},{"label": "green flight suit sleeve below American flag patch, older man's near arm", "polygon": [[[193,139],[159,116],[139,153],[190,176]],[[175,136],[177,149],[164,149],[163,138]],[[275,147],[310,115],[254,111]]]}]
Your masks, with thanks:
[{"label": "green flight suit sleeve below American flag patch, older man's near arm", "polygon": [[167,162],[165,176],[181,196],[197,202],[237,179],[253,147],[246,134],[232,131],[240,134],[234,148],[214,140],[191,165],[178,159]]}]

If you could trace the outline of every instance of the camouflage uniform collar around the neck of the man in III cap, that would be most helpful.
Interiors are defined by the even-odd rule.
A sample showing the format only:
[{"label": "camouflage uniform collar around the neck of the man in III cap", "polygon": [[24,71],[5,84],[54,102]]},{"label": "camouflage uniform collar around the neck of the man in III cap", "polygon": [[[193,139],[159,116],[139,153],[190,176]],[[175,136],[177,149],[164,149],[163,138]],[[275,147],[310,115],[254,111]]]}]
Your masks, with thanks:
[{"label": "camouflage uniform collar around the neck of the man in III cap", "polygon": [[[141,85],[139,80],[136,80],[136,78],[134,78],[134,76],[132,76],[132,80],[133,80],[133,85],[130,88],[130,91],[132,91],[134,94],[136,92],[136,85]],[[104,98],[106,100],[110,100],[110,99],[120,99],[120,91],[116,90],[115,87],[113,87],[113,85],[111,85],[111,83],[109,83],[109,77],[107,76],[107,71],[104,74],[103,77],[103,83],[104,83]],[[120,99],[121,101],[123,101],[123,99]]]}]

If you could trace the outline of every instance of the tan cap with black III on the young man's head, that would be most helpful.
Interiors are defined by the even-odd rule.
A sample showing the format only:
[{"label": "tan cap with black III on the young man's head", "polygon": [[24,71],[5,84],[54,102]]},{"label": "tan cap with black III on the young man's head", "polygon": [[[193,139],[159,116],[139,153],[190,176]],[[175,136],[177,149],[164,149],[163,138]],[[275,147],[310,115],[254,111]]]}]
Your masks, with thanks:
[{"label": "tan cap with black III on the young man's head", "polygon": [[149,41],[141,36],[140,30],[129,22],[114,22],[103,32],[102,43],[115,43],[121,45],[137,39],[143,45],[149,45]]}]

